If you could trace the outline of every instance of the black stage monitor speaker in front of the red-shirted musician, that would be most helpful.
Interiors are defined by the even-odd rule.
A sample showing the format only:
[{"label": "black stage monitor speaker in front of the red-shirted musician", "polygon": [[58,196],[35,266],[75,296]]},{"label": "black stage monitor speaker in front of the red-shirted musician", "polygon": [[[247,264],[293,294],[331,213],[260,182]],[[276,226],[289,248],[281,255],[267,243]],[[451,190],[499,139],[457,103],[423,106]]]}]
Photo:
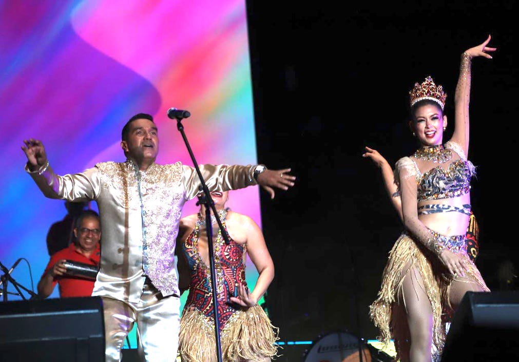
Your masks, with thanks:
[{"label": "black stage monitor speaker in front of the red-shirted musician", "polygon": [[104,346],[100,297],[0,303],[1,362],[103,362]]}]

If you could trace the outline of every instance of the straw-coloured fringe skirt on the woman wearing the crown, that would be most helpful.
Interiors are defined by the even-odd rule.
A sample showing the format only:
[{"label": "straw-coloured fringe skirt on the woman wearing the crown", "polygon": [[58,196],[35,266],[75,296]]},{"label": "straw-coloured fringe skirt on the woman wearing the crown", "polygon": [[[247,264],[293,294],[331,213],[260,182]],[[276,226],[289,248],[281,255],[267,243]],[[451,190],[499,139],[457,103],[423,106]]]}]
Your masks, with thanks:
[{"label": "straw-coloured fringe skirt on the woman wearing the crown", "polygon": [[[463,263],[468,266],[465,277],[456,281],[477,283],[483,290],[489,291],[479,270],[470,260],[465,249],[460,250]],[[394,340],[397,356],[408,354],[410,336],[407,329],[405,305],[399,299],[402,284],[407,272],[416,270],[424,281],[425,292],[429,298],[433,314],[433,360],[438,359],[445,343],[446,316],[452,315],[449,301],[450,286],[453,276],[448,273],[441,261],[421,244],[418,245],[406,232],[403,232],[389,252],[378,298],[370,305],[370,318],[380,331],[377,339],[384,345]],[[413,271],[412,271],[413,272]],[[405,351],[404,351],[405,350]]]}]

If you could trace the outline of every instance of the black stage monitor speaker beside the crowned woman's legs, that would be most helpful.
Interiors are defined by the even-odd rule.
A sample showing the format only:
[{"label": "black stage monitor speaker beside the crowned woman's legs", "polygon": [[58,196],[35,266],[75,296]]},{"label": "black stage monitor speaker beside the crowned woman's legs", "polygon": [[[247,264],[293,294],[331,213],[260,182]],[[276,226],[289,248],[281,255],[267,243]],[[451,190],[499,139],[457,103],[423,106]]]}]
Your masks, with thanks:
[{"label": "black stage monitor speaker beside the crowned woman's legs", "polygon": [[467,292],[445,340],[442,362],[519,358],[519,291]]}]

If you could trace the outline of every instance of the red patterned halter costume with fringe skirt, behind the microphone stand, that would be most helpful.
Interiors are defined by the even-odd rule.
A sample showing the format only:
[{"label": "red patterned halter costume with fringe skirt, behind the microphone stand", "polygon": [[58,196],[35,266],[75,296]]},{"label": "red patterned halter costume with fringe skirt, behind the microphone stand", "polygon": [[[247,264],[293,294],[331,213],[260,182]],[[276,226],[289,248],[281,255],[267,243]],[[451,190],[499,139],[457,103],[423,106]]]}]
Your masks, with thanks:
[{"label": "red patterned halter costume with fringe skirt, behind the microphone stand", "polygon": [[[222,211],[221,220],[227,233],[227,211]],[[182,253],[179,256],[188,265],[191,276],[189,295],[180,321],[179,351],[183,362],[216,361],[211,270],[198,252],[200,225],[204,223],[199,214],[195,229],[181,245]],[[229,245],[226,245],[218,230],[214,243],[214,265],[222,358],[225,362],[238,362],[276,356],[277,336],[274,330],[277,328],[271,325],[262,307],[255,305],[244,310],[230,301],[230,297],[237,296],[238,285],[246,284],[246,247],[230,236],[229,240]]]}]

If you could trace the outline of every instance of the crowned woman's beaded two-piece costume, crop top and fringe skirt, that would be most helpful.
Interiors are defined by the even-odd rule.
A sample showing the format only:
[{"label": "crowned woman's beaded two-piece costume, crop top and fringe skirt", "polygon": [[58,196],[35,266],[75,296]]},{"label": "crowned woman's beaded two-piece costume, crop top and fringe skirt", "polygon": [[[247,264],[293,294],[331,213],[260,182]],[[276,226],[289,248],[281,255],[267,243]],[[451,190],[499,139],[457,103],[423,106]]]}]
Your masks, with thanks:
[{"label": "crowned woman's beaded two-piece costume, crop top and fringe skirt", "polygon": [[[395,180],[399,180],[402,173],[407,177],[415,177],[419,202],[451,198],[466,194],[470,190],[470,179],[474,173],[474,167],[467,160],[458,144],[447,142],[444,148],[445,150],[440,145],[442,150],[440,152],[444,152],[448,157],[453,158],[452,162],[446,163],[447,170],[438,165],[427,172],[421,173],[414,157],[403,157],[397,162]],[[422,206],[419,208],[419,213],[420,209],[426,210],[426,212],[422,211],[421,213],[432,213],[439,208],[444,208],[443,212],[470,213],[470,205],[463,205],[461,208],[441,204]],[[424,289],[432,306],[433,360],[438,360],[441,356],[446,337],[445,318],[448,318],[448,315],[453,312],[449,301],[452,281],[476,283],[483,290],[489,291],[480,272],[467,253],[466,235],[444,236],[438,233],[435,233],[435,235],[441,240],[444,248],[461,255],[468,271],[463,278],[453,276],[448,273],[440,259],[427,249],[422,242],[416,240],[416,237],[408,231],[404,231],[400,235],[389,252],[378,298],[370,306],[370,317],[381,333],[378,339],[386,344],[394,339],[398,353],[395,360],[398,360],[402,351],[408,348],[410,338],[406,313],[402,311],[402,307],[405,308],[405,300],[402,306],[402,300],[399,299],[404,277],[408,272],[411,273],[412,278],[418,273],[424,281]]]}]

